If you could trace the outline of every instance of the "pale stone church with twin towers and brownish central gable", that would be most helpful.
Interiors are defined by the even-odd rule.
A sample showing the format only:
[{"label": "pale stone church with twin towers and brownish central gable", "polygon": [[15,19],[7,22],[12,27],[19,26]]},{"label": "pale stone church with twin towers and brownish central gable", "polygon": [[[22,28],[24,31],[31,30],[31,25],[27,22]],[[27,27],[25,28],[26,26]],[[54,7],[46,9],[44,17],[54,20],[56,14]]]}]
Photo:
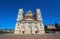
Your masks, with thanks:
[{"label": "pale stone church with twin towers and brownish central gable", "polygon": [[36,9],[36,15],[31,10],[24,13],[19,9],[14,34],[44,34],[44,25],[41,17],[41,11]]}]

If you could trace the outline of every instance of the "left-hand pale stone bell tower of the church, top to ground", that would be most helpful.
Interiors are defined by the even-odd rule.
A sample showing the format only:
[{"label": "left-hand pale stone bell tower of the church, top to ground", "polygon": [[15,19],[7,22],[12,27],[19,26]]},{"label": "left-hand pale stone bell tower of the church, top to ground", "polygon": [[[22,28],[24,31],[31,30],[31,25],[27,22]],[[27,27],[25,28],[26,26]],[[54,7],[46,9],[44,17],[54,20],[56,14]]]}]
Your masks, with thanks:
[{"label": "left-hand pale stone bell tower of the church, top to ground", "polygon": [[[21,25],[23,25],[22,23],[20,23],[20,21],[23,19],[23,9],[19,9],[18,11],[18,16],[17,16],[17,21],[16,21],[16,26],[15,26],[15,34],[18,34],[19,32],[21,32]],[[21,32],[22,33],[22,32]],[[20,33],[20,34],[21,34]]]}]

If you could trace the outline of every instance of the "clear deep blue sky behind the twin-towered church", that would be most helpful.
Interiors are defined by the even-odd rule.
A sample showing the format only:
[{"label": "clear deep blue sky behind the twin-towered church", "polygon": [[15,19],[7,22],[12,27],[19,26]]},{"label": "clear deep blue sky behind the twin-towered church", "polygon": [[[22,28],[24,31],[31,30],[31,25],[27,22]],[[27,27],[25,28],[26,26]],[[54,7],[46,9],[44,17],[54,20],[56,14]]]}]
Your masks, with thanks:
[{"label": "clear deep blue sky behind the twin-towered church", "polygon": [[15,28],[19,8],[34,12],[40,8],[44,25],[60,24],[60,0],[0,0],[0,29]]}]

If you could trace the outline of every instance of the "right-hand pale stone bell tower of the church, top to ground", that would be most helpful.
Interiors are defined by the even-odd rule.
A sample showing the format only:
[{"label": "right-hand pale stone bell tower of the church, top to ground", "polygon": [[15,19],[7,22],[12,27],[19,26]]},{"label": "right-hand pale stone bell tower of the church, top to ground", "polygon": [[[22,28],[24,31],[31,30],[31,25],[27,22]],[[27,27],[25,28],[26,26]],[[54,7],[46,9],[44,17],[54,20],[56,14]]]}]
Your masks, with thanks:
[{"label": "right-hand pale stone bell tower of the church, top to ground", "polygon": [[41,11],[39,8],[36,9],[36,15],[37,15],[37,20],[38,20],[37,26],[38,26],[39,34],[43,34],[43,33],[45,33],[44,25],[43,25],[43,21],[42,21]]}]

